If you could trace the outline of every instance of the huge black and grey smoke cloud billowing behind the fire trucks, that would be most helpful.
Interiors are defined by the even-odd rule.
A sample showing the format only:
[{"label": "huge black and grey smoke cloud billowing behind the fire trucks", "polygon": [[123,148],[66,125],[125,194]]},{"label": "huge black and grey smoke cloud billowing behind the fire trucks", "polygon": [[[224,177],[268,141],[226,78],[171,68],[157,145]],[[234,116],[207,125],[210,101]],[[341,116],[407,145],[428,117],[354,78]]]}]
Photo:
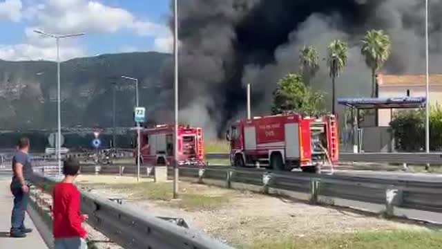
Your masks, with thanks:
[{"label": "huge black and grey smoke cloud billowing behind the fire trucks", "polygon": [[[424,72],[425,3],[421,0],[178,3],[180,120],[203,126],[209,137],[219,136],[229,122],[244,117],[247,83],[252,86],[253,116],[268,114],[276,83],[285,74],[298,71],[298,51],[304,45],[320,51],[314,88],[330,93],[327,44],[333,39],[349,44],[349,64],[337,80],[338,97],[369,96],[370,73],[360,53],[361,39],[369,29],[384,29],[392,37],[393,53],[383,71]],[[441,14],[442,2],[432,1],[430,61],[434,73],[441,71]],[[172,72],[170,63],[164,68],[169,89]],[[331,106],[329,94],[327,98]]]}]

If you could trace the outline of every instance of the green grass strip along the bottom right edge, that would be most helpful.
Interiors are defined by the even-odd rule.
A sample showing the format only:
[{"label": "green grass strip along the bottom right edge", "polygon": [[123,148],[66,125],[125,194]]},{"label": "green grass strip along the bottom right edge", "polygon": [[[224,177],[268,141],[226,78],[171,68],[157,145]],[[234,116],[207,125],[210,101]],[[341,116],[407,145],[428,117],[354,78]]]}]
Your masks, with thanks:
[{"label": "green grass strip along the bottom right edge", "polygon": [[442,248],[442,232],[359,232],[327,237],[298,237],[260,241],[249,249],[436,249]]}]

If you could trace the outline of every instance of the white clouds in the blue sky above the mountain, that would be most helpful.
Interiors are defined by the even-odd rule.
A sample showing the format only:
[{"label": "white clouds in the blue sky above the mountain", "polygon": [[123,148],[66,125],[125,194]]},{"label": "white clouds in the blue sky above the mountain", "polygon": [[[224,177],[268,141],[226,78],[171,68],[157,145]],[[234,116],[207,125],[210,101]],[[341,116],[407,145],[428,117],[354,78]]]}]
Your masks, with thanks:
[{"label": "white clouds in the blue sky above the mountain", "polygon": [[[0,21],[2,20],[23,21],[26,27],[21,44],[0,44],[0,59],[54,60],[55,40],[33,33],[35,29],[55,34],[84,32],[87,35],[100,36],[124,32],[131,34],[129,37],[133,39],[153,38],[154,50],[171,50],[169,29],[165,25],[136,17],[124,8],[108,6],[99,0],[23,0],[23,3],[20,0],[0,0]],[[66,60],[87,55],[87,49],[81,43],[84,39],[86,38],[63,39],[61,58]],[[136,47],[140,47],[139,44]],[[124,50],[128,50],[127,46]]]}]

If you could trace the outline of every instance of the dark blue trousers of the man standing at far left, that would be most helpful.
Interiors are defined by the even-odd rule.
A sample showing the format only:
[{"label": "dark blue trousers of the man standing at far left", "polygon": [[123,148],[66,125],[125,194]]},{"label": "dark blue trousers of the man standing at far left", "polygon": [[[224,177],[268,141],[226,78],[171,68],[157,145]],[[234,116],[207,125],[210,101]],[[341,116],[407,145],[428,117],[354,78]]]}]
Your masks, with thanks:
[{"label": "dark blue trousers of the man standing at far left", "polygon": [[28,194],[24,193],[20,187],[11,187],[14,195],[14,208],[11,215],[11,232],[20,232],[24,228],[26,210],[28,209]]}]

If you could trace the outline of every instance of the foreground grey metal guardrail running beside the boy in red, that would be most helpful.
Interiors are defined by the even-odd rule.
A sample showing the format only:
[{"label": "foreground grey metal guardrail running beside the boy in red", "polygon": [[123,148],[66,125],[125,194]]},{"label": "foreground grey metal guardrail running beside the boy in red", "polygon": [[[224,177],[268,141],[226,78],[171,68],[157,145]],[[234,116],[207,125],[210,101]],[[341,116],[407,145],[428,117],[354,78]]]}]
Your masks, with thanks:
[{"label": "foreground grey metal guardrail running beside the boy in red", "polygon": [[[43,186],[54,184],[56,180],[35,174],[33,182]],[[81,212],[88,214],[88,223],[93,228],[124,248],[231,248],[198,231],[182,228],[142,210],[119,205],[88,192],[81,192]]]}]

